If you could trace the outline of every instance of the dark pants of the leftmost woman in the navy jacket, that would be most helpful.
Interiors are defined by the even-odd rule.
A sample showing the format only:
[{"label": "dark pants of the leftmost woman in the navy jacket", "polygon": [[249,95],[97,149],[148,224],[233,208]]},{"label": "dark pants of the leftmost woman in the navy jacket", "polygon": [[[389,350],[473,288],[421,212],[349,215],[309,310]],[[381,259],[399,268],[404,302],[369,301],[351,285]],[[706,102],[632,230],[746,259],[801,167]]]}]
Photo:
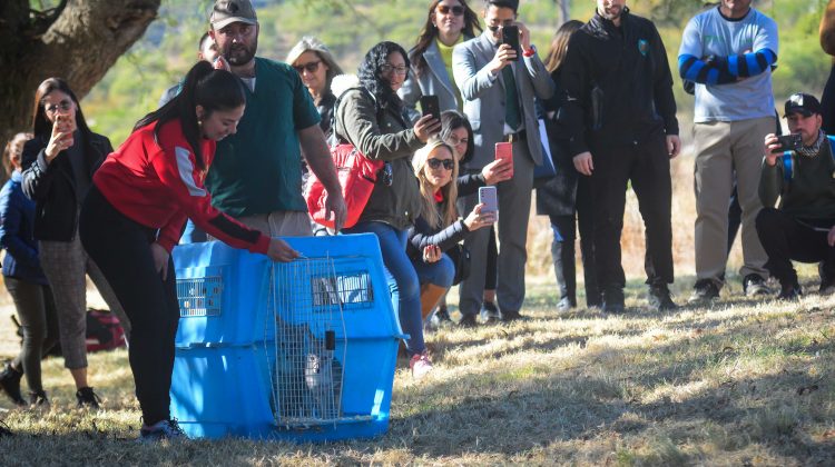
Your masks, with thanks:
[{"label": "dark pants of the leftmost woman in the navy jacket", "polygon": [[58,342],[58,316],[56,315],[52,290],[49,286],[4,277],[23,331],[20,354],[12,360],[16,369],[22,369],[29,390],[43,390],[40,378],[40,360]]}]

